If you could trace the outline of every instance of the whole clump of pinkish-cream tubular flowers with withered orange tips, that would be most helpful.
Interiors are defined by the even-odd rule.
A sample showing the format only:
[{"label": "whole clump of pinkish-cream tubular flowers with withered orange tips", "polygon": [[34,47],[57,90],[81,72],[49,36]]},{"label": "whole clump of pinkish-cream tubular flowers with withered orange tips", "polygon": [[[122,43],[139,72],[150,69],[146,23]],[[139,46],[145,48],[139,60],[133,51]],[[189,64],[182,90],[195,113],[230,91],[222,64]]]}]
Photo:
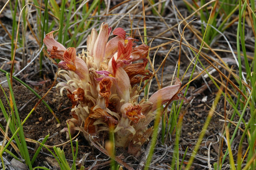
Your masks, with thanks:
[{"label": "whole clump of pinkish-cream tubular flowers with withered orange tips", "polygon": [[[155,118],[159,104],[177,99],[181,86],[175,85],[158,90],[146,100],[139,101],[138,83],[152,74],[145,69],[148,46],[134,47],[135,39],[126,37],[122,28],[113,30],[102,23],[100,32],[91,30],[87,38],[87,51],[76,54],[74,48],[65,48],[56,42],[53,32],[44,38],[51,58],[60,59],[58,74],[60,93],[67,91],[72,102],[72,132],[80,130],[86,139],[90,134],[108,133],[114,127],[115,144],[138,154],[142,144],[151,136],[149,123]],[[135,63],[136,61],[136,63]],[[82,125],[82,126],[81,126]]]}]

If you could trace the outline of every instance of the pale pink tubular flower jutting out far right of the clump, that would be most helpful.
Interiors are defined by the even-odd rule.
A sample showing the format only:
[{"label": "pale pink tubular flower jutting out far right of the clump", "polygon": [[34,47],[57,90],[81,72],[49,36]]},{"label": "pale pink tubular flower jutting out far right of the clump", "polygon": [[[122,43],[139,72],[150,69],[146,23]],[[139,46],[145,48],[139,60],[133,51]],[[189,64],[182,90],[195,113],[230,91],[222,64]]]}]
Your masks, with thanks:
[{"label": "pale pink tubular flower jutting out far right of the clump", "polygon": [[178,93],[181,85],[181,81],[177,79],[175,85],[167,86],[152,94],[148,99],[149,102],[153,103],[152,110],[156,110],[158,105],[162,105],[173,99],[173,97]]}]

